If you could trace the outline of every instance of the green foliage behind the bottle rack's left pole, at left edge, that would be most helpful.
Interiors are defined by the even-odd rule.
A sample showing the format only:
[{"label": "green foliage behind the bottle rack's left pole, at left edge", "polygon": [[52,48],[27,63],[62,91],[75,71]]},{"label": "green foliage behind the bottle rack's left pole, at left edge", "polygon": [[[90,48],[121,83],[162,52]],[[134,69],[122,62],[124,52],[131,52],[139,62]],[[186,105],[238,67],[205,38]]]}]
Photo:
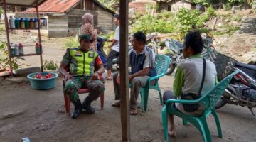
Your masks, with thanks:
[{"label": "green foliage behind the bottle rack's left pole, at left edge", "polygon": [[[18,63],[18,60],[25,60],[25,59],[21,57],[12,58],[11,64],[14,70],[21,68],[21,64]],[[0,68],[6,69],[8,67],[10,66],[9,66],[9,55],[8,55],[7,43],[4,41],[0,41]]]}]

